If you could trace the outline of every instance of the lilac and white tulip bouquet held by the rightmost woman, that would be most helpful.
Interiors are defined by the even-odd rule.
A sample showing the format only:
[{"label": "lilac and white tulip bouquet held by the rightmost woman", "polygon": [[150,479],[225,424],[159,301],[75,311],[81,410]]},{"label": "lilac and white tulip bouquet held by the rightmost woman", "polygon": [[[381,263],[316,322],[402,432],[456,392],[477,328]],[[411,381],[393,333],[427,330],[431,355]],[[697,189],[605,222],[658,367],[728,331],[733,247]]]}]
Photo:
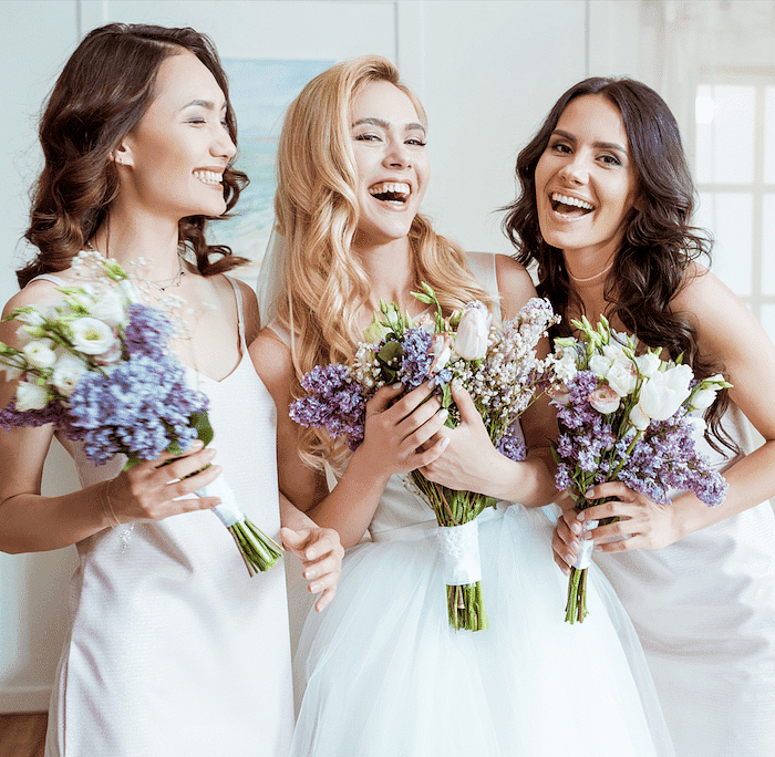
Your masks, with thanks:
[{"label": "lilac and white tulip bouquet held by the rightmost woman", "polygon": [[[696,449],[695,436],[705,424],[691,413],[709,407],[731,384],[721,374],[696,381],[680,359],[662,361],[661,349],[638,354],[637,341],[613,331],[603,317],[597,329],[586,318],[572,324],[580,338],[555,340],[547,371],[560,429],[557,488],[569,489],[579,510],[607,501],[583,496],[607,481],[622,481],[657,502],[668,502],[668,491],[681,489],[711,507],[720,505],[726,481]],[[597,525],[592,520],[588,527]],[[569,623],[587,615],[591,549],[585,540],[570,571]]]}]

